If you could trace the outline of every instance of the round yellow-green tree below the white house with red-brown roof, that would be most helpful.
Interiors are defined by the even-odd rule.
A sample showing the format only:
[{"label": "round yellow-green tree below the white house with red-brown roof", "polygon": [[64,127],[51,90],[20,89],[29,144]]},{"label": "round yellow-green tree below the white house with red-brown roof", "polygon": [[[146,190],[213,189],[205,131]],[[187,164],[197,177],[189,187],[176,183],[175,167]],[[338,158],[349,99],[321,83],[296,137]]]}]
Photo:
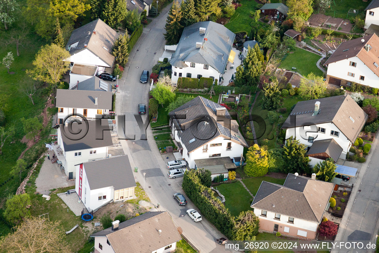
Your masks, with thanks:
[{"label": "round yellow-green tree below the white house with red-brown roof", "polygon": [[326,83],[324,78],[312,72],[306,78],[300,80],[299,95],[305,100],[324,97],[325,91]]}]

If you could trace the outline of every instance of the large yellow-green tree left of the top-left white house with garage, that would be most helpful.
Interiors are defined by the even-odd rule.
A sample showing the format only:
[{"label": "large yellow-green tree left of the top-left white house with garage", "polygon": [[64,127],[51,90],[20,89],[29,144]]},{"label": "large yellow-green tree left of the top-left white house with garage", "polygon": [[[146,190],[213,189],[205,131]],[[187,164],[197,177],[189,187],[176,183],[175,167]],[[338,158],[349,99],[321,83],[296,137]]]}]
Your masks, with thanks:
[{"label": "large yellow-green tree left of the top-left white house with garage", "polygon": [[27,73],[34,80],[50,83],[56,87],[62,75],[70,69],[70,53],[56,44],[42,46],[33,61],[34,69]]}]

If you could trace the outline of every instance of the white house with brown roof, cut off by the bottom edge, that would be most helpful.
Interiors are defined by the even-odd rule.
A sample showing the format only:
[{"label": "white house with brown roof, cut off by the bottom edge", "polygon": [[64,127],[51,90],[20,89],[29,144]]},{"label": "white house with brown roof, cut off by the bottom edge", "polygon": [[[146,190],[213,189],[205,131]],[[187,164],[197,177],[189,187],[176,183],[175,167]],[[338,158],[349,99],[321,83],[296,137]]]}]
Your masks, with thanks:
[{"label": "white house with brown roof, cut off by the bottom edge", "polygon": [[147,212],[125,222],[118,220],[95,238],[95,253],[167,253],[182,239],[168,212]]}]

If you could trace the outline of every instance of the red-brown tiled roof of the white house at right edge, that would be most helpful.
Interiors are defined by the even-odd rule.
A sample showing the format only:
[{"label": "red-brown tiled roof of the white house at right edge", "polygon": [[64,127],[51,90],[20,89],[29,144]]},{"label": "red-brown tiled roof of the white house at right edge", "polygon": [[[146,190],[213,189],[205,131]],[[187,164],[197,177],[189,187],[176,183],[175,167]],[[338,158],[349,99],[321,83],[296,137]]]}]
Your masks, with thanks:
[{"label": "red-brown tiled roof of the white house at right edge", "polygon": [[[365,41],[362,43],[361,39],[364,39]],[[371,46],[371,50],[368,52],[364,49],[364,46],[367,44]],[[343,52],[344,50],[347,51]],[[374,74],[379,76],[379,68],[374,65],[374,63],[379,64],[378,50],[379,38],[375,33],[373,33],[361,38],[342,42],[340,46],[338,46],[334,51],[334,53],[329,57],[329,59],[324,63],[324,65],[356,56],[359,58],[359,60],[363,61],[363,63],[369,69],[371,69],[371,71],[374,72]]]}]

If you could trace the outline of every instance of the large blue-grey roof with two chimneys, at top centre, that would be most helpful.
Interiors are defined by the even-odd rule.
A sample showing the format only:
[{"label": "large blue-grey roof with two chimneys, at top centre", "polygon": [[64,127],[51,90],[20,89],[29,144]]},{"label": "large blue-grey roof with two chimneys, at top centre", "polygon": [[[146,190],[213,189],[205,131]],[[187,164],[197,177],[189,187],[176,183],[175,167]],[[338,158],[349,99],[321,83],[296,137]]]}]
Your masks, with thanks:
[{"label": "large blue-grey roof with two chimneys, at top centre", "polygon": [[[206,28],[200,34],[199,28]],[[204,41],[207,38],[207,41]],[[185,27],[170,63],[177,68],[187,67],[184,61],[207,64],[224,73],[235,34],[221,24],[212,21],[197,22]],[[205,42],[196,48],[196,42]]]}]

